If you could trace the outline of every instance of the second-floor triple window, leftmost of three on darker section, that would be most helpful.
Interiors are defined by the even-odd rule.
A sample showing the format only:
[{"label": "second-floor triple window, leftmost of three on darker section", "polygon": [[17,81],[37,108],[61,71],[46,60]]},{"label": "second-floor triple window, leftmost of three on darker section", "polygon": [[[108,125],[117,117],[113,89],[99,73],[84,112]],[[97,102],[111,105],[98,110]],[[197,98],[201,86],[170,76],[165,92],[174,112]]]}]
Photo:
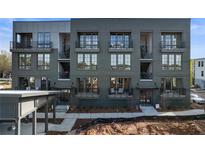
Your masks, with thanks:
[{"label": "second-floor triple window, leftmost of three on darker section", "polygon": [[97,54],[78,54],[77,63],[80,70],[96,70]]}]

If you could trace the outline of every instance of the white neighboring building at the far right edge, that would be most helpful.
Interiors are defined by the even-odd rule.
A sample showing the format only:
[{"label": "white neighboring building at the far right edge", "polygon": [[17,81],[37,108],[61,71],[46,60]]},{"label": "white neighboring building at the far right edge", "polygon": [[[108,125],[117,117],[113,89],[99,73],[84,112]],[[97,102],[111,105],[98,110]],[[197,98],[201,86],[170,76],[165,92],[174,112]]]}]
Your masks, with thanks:
[{"label": "white neighboring building at the far right edge", "polygon": [[205,89],[205,58],[195,59],[194,62],[195,85]]}]

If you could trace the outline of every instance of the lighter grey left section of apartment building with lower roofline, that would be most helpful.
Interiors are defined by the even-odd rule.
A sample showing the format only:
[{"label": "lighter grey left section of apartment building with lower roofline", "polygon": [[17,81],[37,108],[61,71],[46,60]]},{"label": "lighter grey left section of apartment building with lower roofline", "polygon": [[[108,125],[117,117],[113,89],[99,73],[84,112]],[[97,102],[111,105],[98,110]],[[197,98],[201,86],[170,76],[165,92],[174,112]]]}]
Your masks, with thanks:
[{"label": "lighter grey left section of apartment building with lower roofline", "polygon": [[14,22],[13,89],[69,88],[70,21]]}]

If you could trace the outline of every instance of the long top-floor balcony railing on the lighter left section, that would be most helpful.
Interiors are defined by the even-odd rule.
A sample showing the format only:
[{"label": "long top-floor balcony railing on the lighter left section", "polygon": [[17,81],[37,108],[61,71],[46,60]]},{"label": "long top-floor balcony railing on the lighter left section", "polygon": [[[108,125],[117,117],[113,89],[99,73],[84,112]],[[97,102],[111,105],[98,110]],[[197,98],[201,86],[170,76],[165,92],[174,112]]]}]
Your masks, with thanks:
[{"label": "long top-floor balcony railing on the lighter left section", "polygon": [[52,48],[52,42],[38,42],[38,41],[29,41],[29,42],[10,42],[10,49],[32,49],[32,48]]}]

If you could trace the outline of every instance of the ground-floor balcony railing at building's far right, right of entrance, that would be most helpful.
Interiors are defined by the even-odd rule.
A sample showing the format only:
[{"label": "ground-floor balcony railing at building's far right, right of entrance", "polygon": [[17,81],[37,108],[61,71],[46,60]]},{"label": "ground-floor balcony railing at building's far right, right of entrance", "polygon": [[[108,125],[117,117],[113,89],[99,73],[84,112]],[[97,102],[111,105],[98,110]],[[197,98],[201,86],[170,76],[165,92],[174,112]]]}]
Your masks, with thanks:
[{"label": "ground-floor balcony railing at building's far right, right of entrance", "polygon": [[186,96],[185,88],[173,88],[172,90],[166,90],[160,88],[160,95],[164,97],[181,97]]}]

